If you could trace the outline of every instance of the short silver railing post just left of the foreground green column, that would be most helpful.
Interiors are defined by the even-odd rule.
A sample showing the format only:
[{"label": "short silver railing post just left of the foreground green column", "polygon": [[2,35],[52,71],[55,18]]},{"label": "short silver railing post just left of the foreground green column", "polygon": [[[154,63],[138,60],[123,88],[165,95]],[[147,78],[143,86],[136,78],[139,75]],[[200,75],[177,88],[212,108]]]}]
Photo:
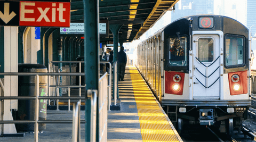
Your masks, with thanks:
[{"label": "short silver railing post just left of the foreground green column", "polygon": [[72,141],[81,141],[80,130],[80,102],[76,102],[73,104]]}]

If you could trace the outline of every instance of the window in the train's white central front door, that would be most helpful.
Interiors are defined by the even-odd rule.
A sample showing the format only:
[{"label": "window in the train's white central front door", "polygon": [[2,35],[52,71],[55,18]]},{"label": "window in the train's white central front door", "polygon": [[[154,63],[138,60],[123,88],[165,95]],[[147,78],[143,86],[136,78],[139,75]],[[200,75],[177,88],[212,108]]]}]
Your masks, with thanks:
[{"label": "window in the train's white central front door", "polygon": [[213,61],[213,39],[199,38],[198,39],[198,60],[201,62]]}]

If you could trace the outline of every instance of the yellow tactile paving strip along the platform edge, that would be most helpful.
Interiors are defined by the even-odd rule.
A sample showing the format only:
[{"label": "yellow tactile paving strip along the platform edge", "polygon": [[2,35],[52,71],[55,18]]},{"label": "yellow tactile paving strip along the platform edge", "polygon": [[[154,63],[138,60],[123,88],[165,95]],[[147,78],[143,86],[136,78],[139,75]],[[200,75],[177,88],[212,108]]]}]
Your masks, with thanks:
[{"label": "yellow tactile paving strip along the platform edge", "polygon": [[172,129],[143,78],[134,66],[129,66],[135,102],[137,104],[143,141],[182,141]]}]

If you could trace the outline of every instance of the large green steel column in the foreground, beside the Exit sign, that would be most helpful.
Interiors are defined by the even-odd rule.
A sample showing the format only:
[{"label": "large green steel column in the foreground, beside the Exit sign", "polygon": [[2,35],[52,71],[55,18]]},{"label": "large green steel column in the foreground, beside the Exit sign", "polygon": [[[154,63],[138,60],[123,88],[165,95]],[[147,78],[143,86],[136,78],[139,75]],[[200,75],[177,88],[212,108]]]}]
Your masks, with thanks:
[{"label": "large green steel column in the foreground, beside the Exit sign", "polygon": [[[83,0],[84,4],[84,72],[85,72],[85,141],[90,141],[91,100],[87,90],[99,89],[99,0]],[[98,104],[97,99],[97,104]],[[97,105],[98,110],[98,105]],[[99,112],[97,111],[96,141],[99,141]]]}]

